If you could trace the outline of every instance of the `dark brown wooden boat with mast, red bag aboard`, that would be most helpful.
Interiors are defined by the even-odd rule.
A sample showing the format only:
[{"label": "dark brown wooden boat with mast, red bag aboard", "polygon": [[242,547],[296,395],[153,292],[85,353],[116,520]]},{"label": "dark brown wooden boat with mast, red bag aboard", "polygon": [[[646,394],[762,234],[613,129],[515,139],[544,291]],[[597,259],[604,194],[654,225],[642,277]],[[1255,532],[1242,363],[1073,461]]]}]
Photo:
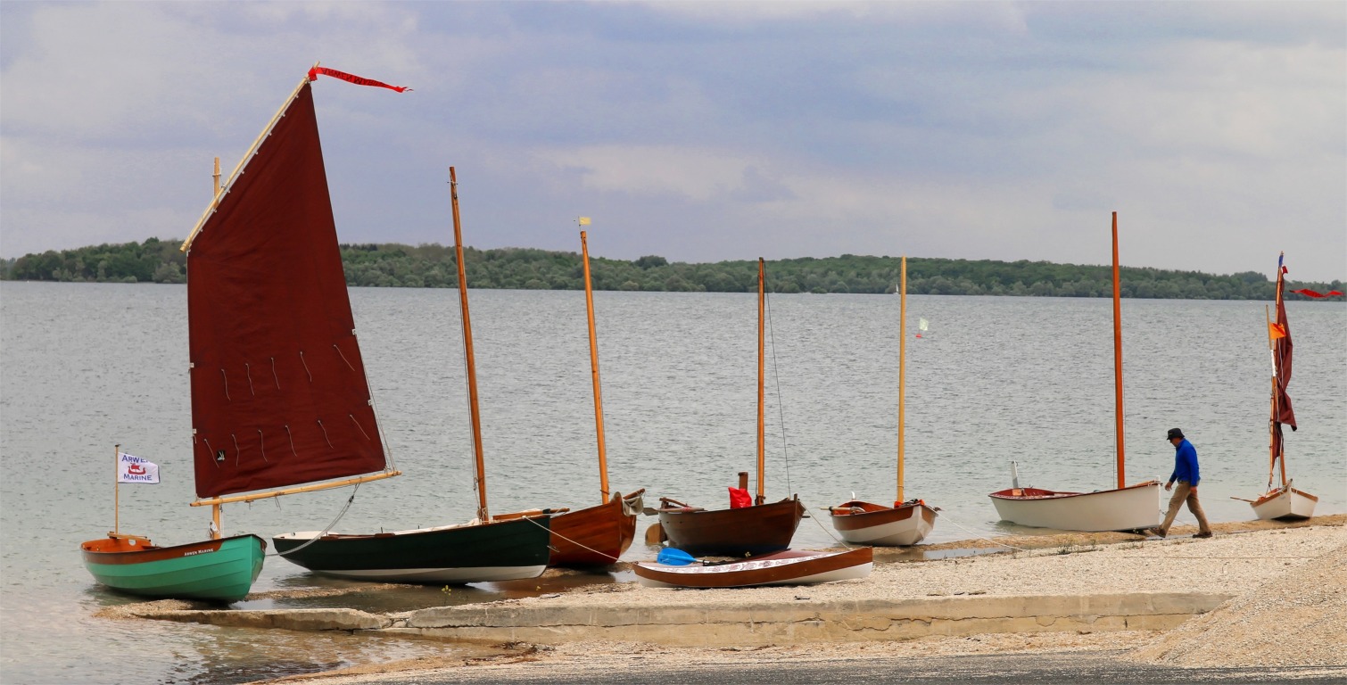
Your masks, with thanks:
[{"label": "dark brown wooden boat with mast, red bag aboard", "polygon": [[[669,498],[660,498],[660,536],[674,548],[694,554],[762,554],[791,546],[791,538],[804,518],[804,505],[795,495],[766,502],[764,494],[764,366],[766,266],[758,258],[758,417],[757,417],[757,497],[749,506],[707,511]],[[748,471],[740,472],[740,491],[748,494]],[[746,499],[746,497],[745,497]]]}]

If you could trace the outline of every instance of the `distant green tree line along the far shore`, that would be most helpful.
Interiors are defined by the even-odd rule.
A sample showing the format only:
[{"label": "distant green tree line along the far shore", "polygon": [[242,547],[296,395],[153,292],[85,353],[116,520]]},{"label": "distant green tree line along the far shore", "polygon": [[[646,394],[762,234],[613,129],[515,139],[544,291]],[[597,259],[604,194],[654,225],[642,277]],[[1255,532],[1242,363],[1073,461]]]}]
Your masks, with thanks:
[{"label": "distant green tree line along the far shore", "polygon": [[[4,280],[78,283],[185,283],[186,256],[180,241],[98,245],[24,254],[3,262]],[[467,283],[473,288],[583,289],[581,256],[527,248],[478,250],[465,248]],[[457,288],[454,249],[442,245],[342,245],[349,285],[379,288]],[[1150,268],[1122,269],[1123,297],[1185,300],[1269,300],[1274,281],[1258,272],[1214,276]],[[756,261],[714,264],[669,262],[647,256],[634,261],[590,258],[599,291],[753,292]],[[768,289],[795,293],[892,293],[900,279],[898,257],[801,257],[768,262]],[[1288,281],[1294,288],[1342,291],[1343,283]],[[1040,297],[1111,297],[1113,269],[1047,261],[968,261],[908,258],[912,295],[1024,295]]]}]

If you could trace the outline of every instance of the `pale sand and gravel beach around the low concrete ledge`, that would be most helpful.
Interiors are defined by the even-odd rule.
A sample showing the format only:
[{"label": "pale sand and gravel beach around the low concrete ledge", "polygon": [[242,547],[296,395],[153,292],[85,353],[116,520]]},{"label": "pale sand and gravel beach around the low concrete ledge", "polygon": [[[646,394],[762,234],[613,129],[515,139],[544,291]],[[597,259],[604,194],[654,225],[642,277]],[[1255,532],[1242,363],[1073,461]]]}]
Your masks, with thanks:
[{"label": "pale sand and gravel beach around the low concrete ledge", "polygon": [[[564,607],[678,607],[735,603],[792,604],[866,598],[1075,595],[1110,592],[1220,592],[1214,611],[1171,630],[1076,630],[990,633],[834,643],[779,643],[752,647],[668,646],[653,642],[579,639],[555,645],[501,643],[473,655],[419,658],[292,676],[268,682],[322,685],[405,682],[567,682],[613,681],[614,673],[663,673],[810,665],[845,668],[886,659],[1055,655],[1103,659],[1126,669],[1183,669],[1207,680],[1220,669],[1262,669],[1268,677],[1347,677],[1347,515],[1309,522],[1216,524],[1216,537],[1195,540],[1176,528],[1165,540],[1125,533],[1072,533],[971,540],[943,549],[1006,548],[1006,552],[931,561],[898,561],[911,552],[881,549],[865,580],[810,587],[750,589],[656,589],[636,583],[602,584],[567,593],[497,604]],[[927,548],[938,553],[936,546]],[[551,571],[550,571],[551,572]],[[504,607],[502,607],[504,608]],[[1269,631],[1288,639],[1269,645]],[[1216,669],[1216,670],[1212,670]],[[1107,669],[1105,669],[1107,670]],[[1208,673],[1210,672],[1210,673]],[[1107,681],[1107,678],[1105,678]],[[1218,678],[1220,680],[1220,678]],[[812,682],[812,681],[811,681]]]}]

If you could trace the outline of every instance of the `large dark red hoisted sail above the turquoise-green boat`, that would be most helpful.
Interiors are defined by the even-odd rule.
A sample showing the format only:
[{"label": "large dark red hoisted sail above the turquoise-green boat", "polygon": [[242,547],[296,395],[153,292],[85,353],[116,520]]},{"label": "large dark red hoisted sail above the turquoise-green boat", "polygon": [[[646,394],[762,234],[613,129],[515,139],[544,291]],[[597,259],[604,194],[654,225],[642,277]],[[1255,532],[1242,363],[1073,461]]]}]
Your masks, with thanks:
[{"label": "large dark red hoisted sail above the turquoise-green boat", "polygon": [[306,82],[187,252],[197,497],[380,471]]}]

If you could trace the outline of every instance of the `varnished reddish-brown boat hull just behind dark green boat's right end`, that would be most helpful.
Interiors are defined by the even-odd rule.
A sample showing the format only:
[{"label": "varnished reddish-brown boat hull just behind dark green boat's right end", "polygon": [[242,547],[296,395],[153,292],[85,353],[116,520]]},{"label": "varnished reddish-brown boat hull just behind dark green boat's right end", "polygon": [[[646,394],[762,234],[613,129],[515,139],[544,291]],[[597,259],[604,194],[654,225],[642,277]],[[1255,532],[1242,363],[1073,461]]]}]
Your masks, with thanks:
[{"label": "varnished reddish-brown boat hull just behind dark green boat's right end", "polygon": [[636,515],[641,513],[645,489],[626,497],[614,493],[598,506],[552,517],[550,567],[602,567],[612,564],[632,546]]}]

